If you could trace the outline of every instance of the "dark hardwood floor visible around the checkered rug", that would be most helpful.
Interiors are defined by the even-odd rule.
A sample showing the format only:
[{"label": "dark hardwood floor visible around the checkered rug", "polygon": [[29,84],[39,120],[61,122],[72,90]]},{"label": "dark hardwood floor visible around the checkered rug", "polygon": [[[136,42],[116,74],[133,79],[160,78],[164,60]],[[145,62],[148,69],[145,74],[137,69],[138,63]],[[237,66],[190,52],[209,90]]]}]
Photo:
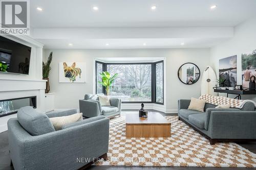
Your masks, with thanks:
[{"label": "dark hardwood floor visible around the checkered rug", "polygon": [[[129,111],[129,110],[125,110]],[[153,110],[151,110],[153,111]],[[177,114],[165,114],[161,113],[162,115],[177,115]],[[243,148],[248,149],[249,151],[256,153],[256,142],[237,142],[239,145],[241,145]],[[11,170],[13,169],[12,166],[10,166],[10,156],[9,156],[9,148],[8,148],[8,131],[0,133],[0,169],[4,170]],[[151,169],[174,169],[174,170],[246,170],[246,169],[256,169],[256,168],[229,168],[229,167],[152,167],[152,166],[90,166],[87,168],[88,170],[101,170],[101,169],[117,169],[117,170],[151,170]]]}]

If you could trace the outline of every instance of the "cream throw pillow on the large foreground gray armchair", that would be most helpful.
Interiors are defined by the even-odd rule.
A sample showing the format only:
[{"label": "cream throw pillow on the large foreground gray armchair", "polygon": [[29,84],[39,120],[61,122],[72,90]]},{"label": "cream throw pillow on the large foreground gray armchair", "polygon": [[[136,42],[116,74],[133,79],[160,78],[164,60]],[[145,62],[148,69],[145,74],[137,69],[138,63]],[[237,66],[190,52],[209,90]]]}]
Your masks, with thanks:
[{"label": "cream throw pillow on the large foreground gray armchair", "polygon": [[60,117],[51,117],[49,118],[54,129],[60,130],[62,126],[71,124],[74,122],[78,122],[79,120],[82,120],[82,113],[76,113],[69,116],[60,116]]}]

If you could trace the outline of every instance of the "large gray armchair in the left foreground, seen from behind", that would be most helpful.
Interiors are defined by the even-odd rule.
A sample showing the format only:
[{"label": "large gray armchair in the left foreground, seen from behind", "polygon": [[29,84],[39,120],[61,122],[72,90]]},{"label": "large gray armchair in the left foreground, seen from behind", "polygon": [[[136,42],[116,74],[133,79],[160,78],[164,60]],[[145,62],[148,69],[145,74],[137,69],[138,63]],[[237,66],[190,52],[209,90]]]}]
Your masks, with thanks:
[{"label": "large gray armchair in the left foreground, seen from behind", "polygon": [[[80,120],[55,131],[49,117],[71,115],[77,109],[39,113],[20,108],[8,121],[11,164],[17,169],[79,169],[94,158],[106,158],[109,118]],[[87,160],[84,160],[87,159]]]}]

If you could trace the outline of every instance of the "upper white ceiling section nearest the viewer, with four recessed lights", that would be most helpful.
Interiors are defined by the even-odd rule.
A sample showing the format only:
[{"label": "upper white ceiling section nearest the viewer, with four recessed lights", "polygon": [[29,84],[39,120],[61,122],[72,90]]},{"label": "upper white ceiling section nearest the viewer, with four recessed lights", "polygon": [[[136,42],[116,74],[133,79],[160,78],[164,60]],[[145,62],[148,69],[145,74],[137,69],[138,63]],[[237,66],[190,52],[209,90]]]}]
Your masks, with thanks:
[{"label": "upper white ceiling section nearest the viewer, with four recessed lights", "polygon": [[[34,28],[236,26],[256,15],[255,0],[33,0]],[[210,9],[211,5],[218,7]],[[152,11],[151,6],[157,9]],[[99,10],[93,11],[97,6]],[[36,7],[41,7],[42,12]]]}]

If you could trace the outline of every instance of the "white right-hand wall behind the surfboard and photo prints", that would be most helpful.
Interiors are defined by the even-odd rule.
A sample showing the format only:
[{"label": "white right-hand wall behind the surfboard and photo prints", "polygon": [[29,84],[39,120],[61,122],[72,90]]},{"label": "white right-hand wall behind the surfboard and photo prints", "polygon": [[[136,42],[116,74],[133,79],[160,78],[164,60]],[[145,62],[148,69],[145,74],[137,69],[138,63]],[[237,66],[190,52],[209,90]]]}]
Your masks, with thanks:
[{"label": "white right-hand wall behind the surfboard and photo prints", "polygon": [[[210,49],[210,64],[219,76],[219,59],[237,55],[237,84],[242,84],[241,54],[256,49],[256,17],[234,27],[234,37]],[[253,99],[253,96],[243,95],[242,99]]]}]

